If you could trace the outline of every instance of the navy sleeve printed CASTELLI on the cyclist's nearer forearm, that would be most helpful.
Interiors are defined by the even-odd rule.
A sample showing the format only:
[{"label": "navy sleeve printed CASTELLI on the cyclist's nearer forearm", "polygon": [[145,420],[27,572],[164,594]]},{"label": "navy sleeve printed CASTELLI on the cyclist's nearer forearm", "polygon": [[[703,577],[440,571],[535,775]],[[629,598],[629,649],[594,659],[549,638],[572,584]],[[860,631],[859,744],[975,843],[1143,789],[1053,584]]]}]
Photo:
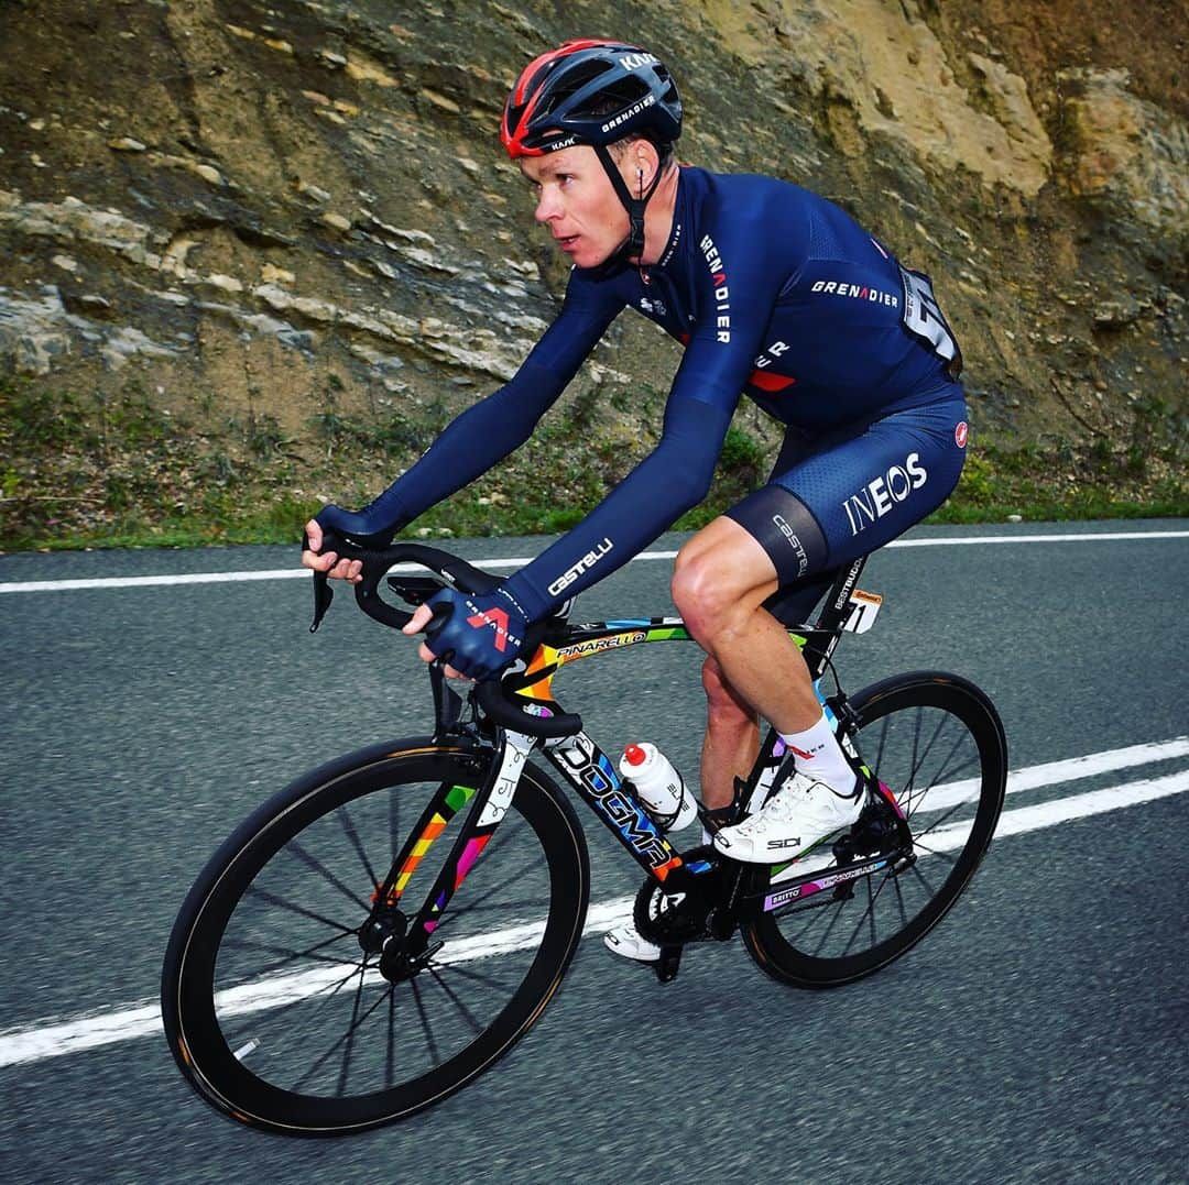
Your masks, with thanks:
[{"label": "navy sleeve printed CASTELLI on the cyclist's nearer forearm", "polygon": [[696,399],[671,403],[656,449],[577,527],[504,585],[529,620],[637,555],[710,490],[730,415]]}]

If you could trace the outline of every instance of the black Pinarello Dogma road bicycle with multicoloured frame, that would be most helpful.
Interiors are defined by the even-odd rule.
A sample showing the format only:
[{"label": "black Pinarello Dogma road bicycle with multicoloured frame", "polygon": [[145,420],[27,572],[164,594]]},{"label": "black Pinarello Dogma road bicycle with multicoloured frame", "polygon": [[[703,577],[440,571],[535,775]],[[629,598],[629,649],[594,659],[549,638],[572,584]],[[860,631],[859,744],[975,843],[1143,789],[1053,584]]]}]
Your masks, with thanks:
[{"label": "black Pinarello Dogma road bicycle with multicoloured frame", "polygon": [[[358,604],[394,628],[410,614],[380,595],[385,576],[409,605],[445,585],[498,584],[422,544],[325,546],[363,561]],[[530,628],[526,661],[465,698],[430,664],[432,735],[313,770],[215,852],[162,976],[165,1034],[185,1078],[243,1123],[338,1135],[430,1107],[507,1053],[561,984],[591,891],[578,817],[542,763],[644,872],[634,920],[661,947],[662,981],[688,944],[736,933],[768,975],[800,988],[853,983],[908,951],[990,843],[1007,744],[990,700],[957,675],[842,691],[835,648],[880,607],[857,587],[864,561],[838,572],[816,622],[788,625],[864,780],[849,831],[770,865],[679,847],[580,717],[562,711],[553,681],[580,660],[688,634],[680,618],[571,624],[561,612]],[[317,574],[312,629],[332,595]],[[769,731],[731,807],[699,806],[704,825],[757,808],[782,759]]]}]

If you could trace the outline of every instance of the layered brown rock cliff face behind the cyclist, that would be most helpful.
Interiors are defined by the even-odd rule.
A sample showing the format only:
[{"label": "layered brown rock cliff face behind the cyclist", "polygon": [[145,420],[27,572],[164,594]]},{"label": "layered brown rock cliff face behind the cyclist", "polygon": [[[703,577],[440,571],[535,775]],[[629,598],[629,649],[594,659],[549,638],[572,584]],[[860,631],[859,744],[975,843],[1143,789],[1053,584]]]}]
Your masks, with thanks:
[{"label": "layered brown rock cliff face behind the cyclist", "polygon": [[[507,87],[617,36],[672,64],[685,159],[817,189],[933,275],[976,429],[1109,436],[1187,399],[1187,33],[1185,0],[8,0],[0,372],[297,441],[396,416],[407,464],[564,288]],[[675,360],[625,314],[568,398],[630,436]]]}]

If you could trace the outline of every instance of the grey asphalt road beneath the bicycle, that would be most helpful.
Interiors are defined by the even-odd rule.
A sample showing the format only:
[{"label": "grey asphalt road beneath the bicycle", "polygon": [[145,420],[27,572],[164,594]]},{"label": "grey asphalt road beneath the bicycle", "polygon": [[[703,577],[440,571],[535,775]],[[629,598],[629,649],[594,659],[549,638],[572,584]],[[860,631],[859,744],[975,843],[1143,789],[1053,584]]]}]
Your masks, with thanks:
[{"label": "grey asphalt road beneath the bicycle", "polygon": [[[862,585],[886,604],[839,650],[845,682],[908,668],[969,676],[1000,708],[1013,769],[1184,737],[1189,537],[1172,532],[1187,529],[917,529],[910,541],[1017,541],[876,557]],[[1061,537],[1118,531],[1151,537]],[[457,549],[524,556],[541,543]],[[781,987],[738,943],[694,948],[661,987],[591,935],[509,1058],[438,1108],[350,1140],[222,1121],[159,1033],[14,1060],[51,1026],[151,1004],[177,907],[235,822],[325,758],[424,731],[430,712],[411,644],[347,599],[307,632],[304,580],[7,585],[294,559],[0,556],[6,1181],[1189,1179],[1177,856],[1189,793],[996,840],[920,947],[837,991]],[[578,616],[672,612],[668,572],[637,561],[584,594]],[[558,691],[606,748],[653,739],[692,774],[697,670],[692,645],[636,648],[578,667]],[[1189,756],[1013,795],[1008,811],[1169,775],[1189,792]],[[592,820],[587,836],[592,901],[633,891],[633,869]]]}]

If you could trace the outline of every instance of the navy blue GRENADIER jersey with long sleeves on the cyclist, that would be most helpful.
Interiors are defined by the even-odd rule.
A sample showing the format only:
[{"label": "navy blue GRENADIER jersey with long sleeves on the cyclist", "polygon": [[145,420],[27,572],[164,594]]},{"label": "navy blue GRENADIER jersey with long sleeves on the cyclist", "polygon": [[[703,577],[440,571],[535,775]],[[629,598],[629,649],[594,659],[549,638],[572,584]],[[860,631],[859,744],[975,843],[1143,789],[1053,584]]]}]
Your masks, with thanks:
[{"label": "navy blue GRENADIER jersey with long sleeves on the cyclist", "polygon": [[741,396],[835,429],[954,397],[957,345],[927,277],[825,198],[769,177],[682,168],[649,267],[574,269],[516,376],[463,412],[394,487],[405,521],[523,443],[625,307],[685,345],[658,447],[507,584],[529,619],[625,563],[709,491]]}]

